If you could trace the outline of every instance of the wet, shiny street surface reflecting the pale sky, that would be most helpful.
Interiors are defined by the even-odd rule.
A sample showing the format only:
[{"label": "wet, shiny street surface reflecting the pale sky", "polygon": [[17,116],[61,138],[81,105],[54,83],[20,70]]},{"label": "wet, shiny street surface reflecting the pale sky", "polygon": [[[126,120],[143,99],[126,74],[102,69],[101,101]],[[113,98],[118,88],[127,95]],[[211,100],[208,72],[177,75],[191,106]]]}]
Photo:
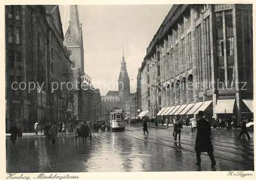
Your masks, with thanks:
[{"label": "wet, shiny street surface reflecting the pale sky", "polygon": [[[7,172],[123,172],[197,171],[194,151],[196,132],[184,128],[181,142],[172,130],[126,126],[125,132],[93,133],[85,145],[74,135],[58,135],[56,144],[44,136],[26,136],[16,144],[6,138]],[[247,140],[239,132],[212,131],[216,169],[208,156],[201,156],[202,171],[254,170],[253,133]],[[206,155],[205,153],[203,153]]]}]

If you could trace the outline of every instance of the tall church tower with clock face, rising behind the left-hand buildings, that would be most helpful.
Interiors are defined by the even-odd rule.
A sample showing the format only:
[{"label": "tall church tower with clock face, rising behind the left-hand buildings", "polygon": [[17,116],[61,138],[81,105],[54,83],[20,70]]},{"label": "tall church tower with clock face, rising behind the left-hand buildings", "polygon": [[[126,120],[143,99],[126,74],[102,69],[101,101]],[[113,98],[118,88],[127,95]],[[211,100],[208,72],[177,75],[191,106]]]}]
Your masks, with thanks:
[{"label": "tall church tower with clock face, rising behind the left-hand buildings", "polygon": [[[64,45],[67,47],[70,60],[72,61],[72,71],[74,83],[80,82],[84,75],[84,60],[83,60],[83,39],[82,39],[82,24],[79,22],[77,5],[70,5],[70,21],[69,27],[65,34]],[[82,76],[80,78],[79,76]],[[82,92],[74,94],[74,115],[81,120],[83,108]]]}]

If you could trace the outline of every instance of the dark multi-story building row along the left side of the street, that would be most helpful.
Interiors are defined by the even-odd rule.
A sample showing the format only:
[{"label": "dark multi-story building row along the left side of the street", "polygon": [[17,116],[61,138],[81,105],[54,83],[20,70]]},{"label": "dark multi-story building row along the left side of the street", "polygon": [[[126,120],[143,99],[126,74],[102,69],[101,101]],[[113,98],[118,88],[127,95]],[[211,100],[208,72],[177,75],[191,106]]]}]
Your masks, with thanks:
[{"label": "dark multi-story building row along the left side of the street", "polygon": [[[17,121],[25,131],[32,131],[35,121],[44,125],[46,121],[63,118],[66,113],[62,108],[62,113],[53,116],[52,111],[55,104],[51,83],[62,81],[63,59],[67,54],[62,43],[59,9],[57,5],[5,8],[6,127]],[[57,108],[61,111],[65,95],[60,92],[54,97],[59,99]]]}]

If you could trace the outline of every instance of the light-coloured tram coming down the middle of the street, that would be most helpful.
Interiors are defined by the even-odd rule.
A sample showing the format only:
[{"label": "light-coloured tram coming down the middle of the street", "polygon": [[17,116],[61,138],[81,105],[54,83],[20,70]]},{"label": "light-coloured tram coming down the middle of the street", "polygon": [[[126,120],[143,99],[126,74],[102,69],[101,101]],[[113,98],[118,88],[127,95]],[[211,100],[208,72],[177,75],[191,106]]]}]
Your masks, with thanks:
[{"label": "light-coloured tram coming down the middle of the street", "polygon": [[108,112],[107,128],[109,131],[124,131],[125,123],[123,118],[123,110],[114,108]]}]

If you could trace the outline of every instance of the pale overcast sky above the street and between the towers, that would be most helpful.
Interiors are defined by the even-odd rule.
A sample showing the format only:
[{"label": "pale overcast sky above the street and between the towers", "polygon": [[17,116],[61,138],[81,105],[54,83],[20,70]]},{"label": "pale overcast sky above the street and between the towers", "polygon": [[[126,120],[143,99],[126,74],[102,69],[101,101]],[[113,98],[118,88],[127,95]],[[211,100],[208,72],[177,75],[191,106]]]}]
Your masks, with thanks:
[{"label": "pale overcast sky above the street and between the towers", "polygon": [[[122,44],[131,92],[136,92],[136,78],[146,48],[172,5],[81,5],[84,70],[101,95],[118,90]],[[70,6],[60,6],[63,33],[68,28]],[[111,83],[111,84],[110,84]]]}]

